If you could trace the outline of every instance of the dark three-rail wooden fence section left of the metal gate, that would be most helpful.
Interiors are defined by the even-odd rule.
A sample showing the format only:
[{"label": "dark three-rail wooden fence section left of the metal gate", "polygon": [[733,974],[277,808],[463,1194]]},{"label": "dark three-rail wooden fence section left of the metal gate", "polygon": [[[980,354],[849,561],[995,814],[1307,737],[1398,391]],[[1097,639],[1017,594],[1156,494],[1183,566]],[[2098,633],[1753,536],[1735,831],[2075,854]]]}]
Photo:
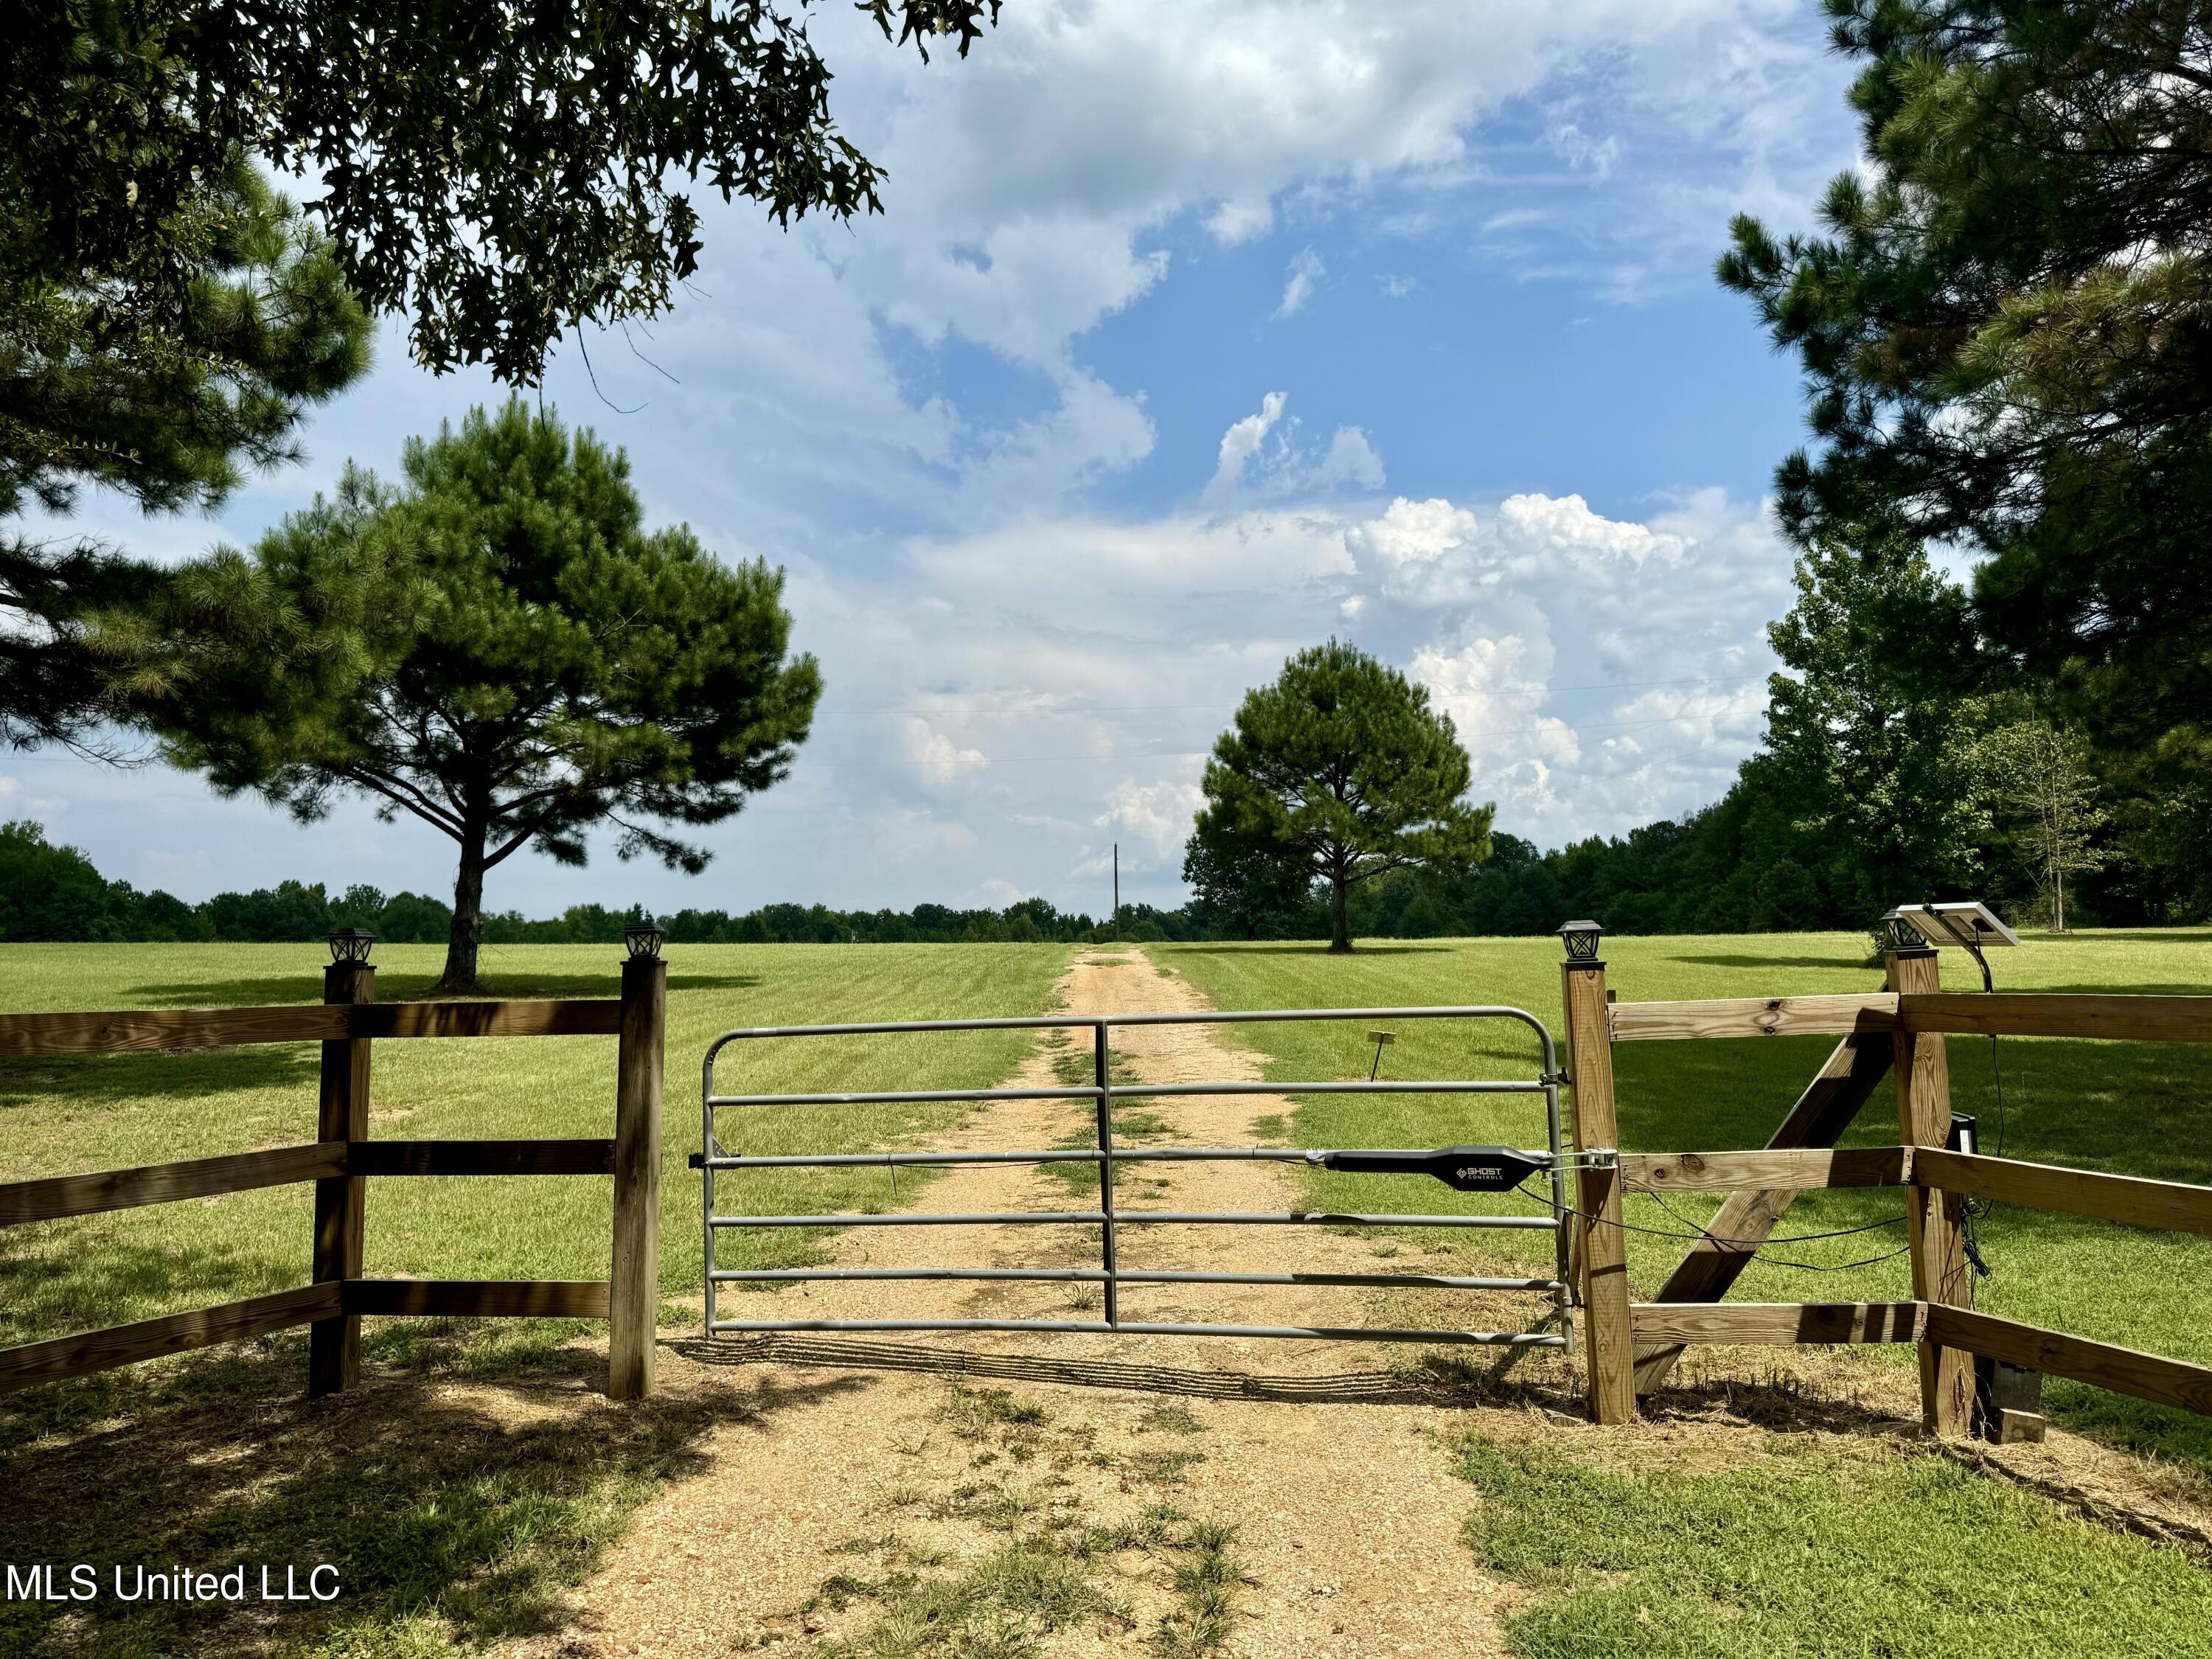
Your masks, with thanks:
[{"label": "dark three-rail wooden fence section left of the metal gate", "polygon": [[[274,1009],[155,1009],[139,1013],[0,1015],[0,1057],[186,1053],[254,1042],[323,1044],[316,1139],[259,1152],[199,1157],[102,1175],[0,1183],[0,1228],[175,1203],[263,1186],[314,1183],[312,1283],[221,1307],[0,1349],[0,1394],[115,1365],[310,1327],[307,1391],[361,1378],[363,1314],[604,1318],[606,1391],[653,1391],[659,1310],[661,1048],[668,964],[633,956],[622,995],[575,1002],[376,1002],[376,969],[334,962],[323,1002]],[[394,1037],[615,1037],[615,1133],[606,1139],[374,1141],[369,1075],[376,1042]],[[363,1194],[372,1177],[613,1175],[608,1279],[363,1279]]]}]

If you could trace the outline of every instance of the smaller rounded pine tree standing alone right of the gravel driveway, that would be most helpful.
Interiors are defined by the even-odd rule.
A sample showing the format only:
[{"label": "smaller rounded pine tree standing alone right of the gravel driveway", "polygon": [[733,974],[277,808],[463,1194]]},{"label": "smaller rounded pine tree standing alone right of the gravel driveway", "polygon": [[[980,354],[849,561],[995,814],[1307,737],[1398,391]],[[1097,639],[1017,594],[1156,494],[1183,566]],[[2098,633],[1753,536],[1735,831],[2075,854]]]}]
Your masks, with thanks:
[{"label": "smaller rounded pine tree standing alone right of the gravel driveway", "polygon": [[1489,856],[1495,807],[1467,805],[1469,781],[1467,750],[1429,692],[1332,639],[1245,692],[1206,763],[1192,845],[1201,869],[1256,867],[1239,872],[1239,896],[1327,883],[1329,949],[1349,951],[1354,885]]}]

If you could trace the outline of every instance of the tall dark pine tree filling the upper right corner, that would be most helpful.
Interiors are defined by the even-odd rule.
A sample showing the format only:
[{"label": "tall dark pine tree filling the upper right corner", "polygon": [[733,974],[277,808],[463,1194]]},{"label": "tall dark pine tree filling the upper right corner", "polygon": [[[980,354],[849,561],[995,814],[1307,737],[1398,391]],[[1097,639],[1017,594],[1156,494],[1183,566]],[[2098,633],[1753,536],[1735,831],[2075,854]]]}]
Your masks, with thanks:
[{"label": "tall dark pine tree filling the upper right corner", "polygon": [[1825,234],[1743,217],[1719,268],[1805,369],[1816,447],[1778,471],[1783,522],[1805,544],[1876,526],[1978,553],[1995,679],[2028,668],[2108,761],[2203,799],[2205,9],[1825,2],[1865,64],[1865,168],[1829,186]]}]

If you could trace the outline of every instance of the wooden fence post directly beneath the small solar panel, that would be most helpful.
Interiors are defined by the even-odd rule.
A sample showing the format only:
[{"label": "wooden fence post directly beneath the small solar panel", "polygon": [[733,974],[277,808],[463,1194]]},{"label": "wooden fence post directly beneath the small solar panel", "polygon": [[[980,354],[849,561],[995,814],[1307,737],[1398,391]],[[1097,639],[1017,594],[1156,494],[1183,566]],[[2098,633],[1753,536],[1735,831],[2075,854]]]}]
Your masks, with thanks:
[{"label": "wooden fence post directly beneath the small solar panel", "polygon": [[[1918,995],[1942,989],[1936,951],[1891,936],[1889,989]],[[1898,1141],[1944,1146],[1951,1139],[1951,1062],[1944,1040],[1927,1031],[1896,1037]],[[1913,1296],[1944,1307],[1966,1305],[1966,1243],[1960,1199],[1940,1188],[1905,1188],[1905,1234],[1913,1252]],[[1931,1433],[1960,1438],[1973,1429],[1973,1354],[1920,1343],[1920,1422]]]}]

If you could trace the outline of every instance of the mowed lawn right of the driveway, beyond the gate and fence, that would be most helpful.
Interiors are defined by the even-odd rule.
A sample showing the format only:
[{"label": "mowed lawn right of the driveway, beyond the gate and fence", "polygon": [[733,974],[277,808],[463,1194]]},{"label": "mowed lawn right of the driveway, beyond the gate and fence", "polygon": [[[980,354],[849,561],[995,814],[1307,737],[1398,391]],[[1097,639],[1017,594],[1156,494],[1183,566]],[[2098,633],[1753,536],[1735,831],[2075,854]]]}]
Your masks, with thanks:
[{"label": "mowed lawn right of the driveway, beyond the gate and fence", "polygon": [[[1374,1006],[1511,1002],[1559,1026],[1557,940],[1376,940],[1349,958],[1303,945],[1152,945],[1221,1006]],[[1856,933],[1608,938],[1608,984],[1621,1002],[1677,998],[1874,991],[1878,969]],[[1993,951],[2000,989],[2212,993],[2212,929],[2077,933]],[[1978,991],[1960,951],[1942,953],[1944,987]],[[1243,1026],[1241,1040],[1270,1055],[1270,1077],[1367,1075],[1374,1051],[1365,1024]],[[1728,1042],[1635,1042],[1615,1048],[1621,1144],[1628,1150],[1763,1146],[1774,1124],[1818,1071],[1834,1037],[1745,1037]],[[1980,1119],[1984,1152],[2075,1168],[2212,1183],[2212,1048],[2004,1037],[1951,1037],[1955,1110]],[[1400,1077],[1535,1075],[1535,1042],[1509,1024],[1402,1022],[1385,1051]],[[2002,1071],[2002,1104],[1997,1073]],[[1542,1144],[1540,1104],[1520,1097],[1312,1097],[1287,1126],[1301,1146],[1440,1146],[1453,1141]],[[1882,1086],[1847,1144],[1896,1144],[1896,1091]],[[1433,1183],[1391,1177],[1316,1175],[1314,1199],[1340,1210],[1475,1210]],[[1628,1221],[1686,1232],[1719,1199],[1677,1197],[1672,1212],[1632,1199]],[[1513,1208],[1511,1203],[1504,1208]],[[1747,1272],[1732,1301],[1889,1301],[1911,1296],[1902,1230],[1871,1225],[1902,1210],[1896,1190],[1809,1192],[1776,1237],[1867,1228],[1834,1239],[1772,1245],[1767,1256],[1805,1263]],[[1438,1234],[1429,1234],[1431,1241]],[[2212,1363],[2212,1239],[2117,1228],[2075,1217],[1993,1206],[1978,1221],[1991,1276],[1975,1305],[2081,1336]],[[1528,1234],[1455,1234],[1464,1252],[1540,1261]],[[1670,1237],[1630,1234],[1639,1290],[1655,1290],[1683,1252]],[[1869,1261],[1871,1259],[1871,1261]],[[1867,1265],[1854,1265],[1867,1263]],[[1909,1349],[1874,1349],[1905,1363]],[[2070,1383],[2046,1402],[2073,1427],[2154,1444],[2212,1462],[2212,1425]]]}]

